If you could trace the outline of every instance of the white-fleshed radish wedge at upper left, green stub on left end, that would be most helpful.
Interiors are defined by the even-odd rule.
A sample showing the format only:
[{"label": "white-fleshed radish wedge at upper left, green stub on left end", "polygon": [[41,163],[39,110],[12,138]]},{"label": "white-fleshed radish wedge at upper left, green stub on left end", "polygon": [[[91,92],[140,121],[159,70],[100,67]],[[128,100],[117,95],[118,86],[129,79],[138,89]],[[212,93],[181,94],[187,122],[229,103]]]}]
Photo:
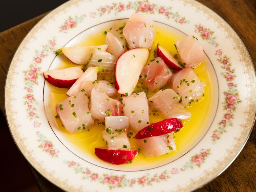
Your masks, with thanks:
[{"label": "white-fleshed radish wedge at upper left, green stub on left end", "polygon": [[108,45],[99,46],[72,46],[58,49],[56,55],[65,55],[67,59],[78,65],[86,65],[95,49],[106,50]]}]

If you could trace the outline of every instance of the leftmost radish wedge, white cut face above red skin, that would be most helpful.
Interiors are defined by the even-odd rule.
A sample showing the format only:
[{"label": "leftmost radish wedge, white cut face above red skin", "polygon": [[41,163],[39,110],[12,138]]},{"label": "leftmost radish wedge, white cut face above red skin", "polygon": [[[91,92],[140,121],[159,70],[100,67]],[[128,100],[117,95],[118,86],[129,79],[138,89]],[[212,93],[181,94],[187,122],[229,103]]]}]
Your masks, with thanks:
[{"label": "leftmost radish wedge, white cut face above red skin", "polygon": [[80,76],[83,70],[80,66],[69,67],[64,69],[56,69],[43,73],[45,80],[55,87],[68,88],[71,87]]}]

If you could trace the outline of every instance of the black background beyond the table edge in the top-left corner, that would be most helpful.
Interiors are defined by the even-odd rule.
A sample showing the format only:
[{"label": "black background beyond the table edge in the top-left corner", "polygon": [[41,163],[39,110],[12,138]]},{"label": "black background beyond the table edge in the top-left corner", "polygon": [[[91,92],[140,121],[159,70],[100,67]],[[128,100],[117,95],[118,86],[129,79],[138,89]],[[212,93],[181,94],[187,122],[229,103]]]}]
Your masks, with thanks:
[{"label": "black background beyond the table edge in the top-left corner", "polygon": [[67,0],[0,0],[0,32],[55,9]]}]

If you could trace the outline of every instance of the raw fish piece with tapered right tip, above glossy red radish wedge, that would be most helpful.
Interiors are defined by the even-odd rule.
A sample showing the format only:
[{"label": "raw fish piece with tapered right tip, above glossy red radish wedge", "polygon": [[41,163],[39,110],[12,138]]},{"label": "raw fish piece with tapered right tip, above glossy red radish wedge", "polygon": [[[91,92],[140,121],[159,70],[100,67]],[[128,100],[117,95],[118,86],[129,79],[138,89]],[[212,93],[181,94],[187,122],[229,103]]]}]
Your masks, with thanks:
[{"label": "raw fish piece with tapered right tip, above glossy red radish wedge", "polygon": [[191,117],[180,103],[180,96],[172,89],[160,90],[152,97],[148,98],[150,106],[161,111],[166,118],[187,119]]}]

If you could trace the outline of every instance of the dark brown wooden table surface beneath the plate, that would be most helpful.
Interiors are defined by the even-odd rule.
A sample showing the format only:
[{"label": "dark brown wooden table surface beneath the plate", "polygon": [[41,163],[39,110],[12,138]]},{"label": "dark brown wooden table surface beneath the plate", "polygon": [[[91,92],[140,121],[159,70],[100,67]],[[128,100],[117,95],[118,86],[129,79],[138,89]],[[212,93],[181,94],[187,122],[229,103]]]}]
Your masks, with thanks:
[{"label": "dark brown wooden table surface beneath the plate", "polygon": [[[198,0],[219,14],[244,42],[256,66],[256,1]],[[0,109],[4,113],[4,83],[9,64],[22,39],[47,13],[0,33]],[[198,189],[198,192],[256,191],[256,131],[255,126],[245,148],[223,174]],[[43,192],[62,191],[42,177],[29,165],[39,189]],[[10,178],[11,179],[11,178]],[[16,178],[19,179],[19,178]]]}]

